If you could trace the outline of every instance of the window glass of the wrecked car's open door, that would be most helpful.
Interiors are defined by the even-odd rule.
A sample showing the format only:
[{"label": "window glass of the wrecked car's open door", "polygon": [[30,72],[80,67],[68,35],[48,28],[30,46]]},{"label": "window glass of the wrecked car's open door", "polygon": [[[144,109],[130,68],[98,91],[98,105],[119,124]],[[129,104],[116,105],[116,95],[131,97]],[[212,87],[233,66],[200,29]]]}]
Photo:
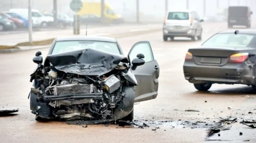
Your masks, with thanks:
[{"label": "window glass of the wrecked car's open door", "polygon": [[145,62],[154,60],[151,46],[148,42],[136,44],[129,53],[130,60],[132,61],[134,58],[137,58],[138,54],[144,54],[145,58],[143,60],[145,60]]}]

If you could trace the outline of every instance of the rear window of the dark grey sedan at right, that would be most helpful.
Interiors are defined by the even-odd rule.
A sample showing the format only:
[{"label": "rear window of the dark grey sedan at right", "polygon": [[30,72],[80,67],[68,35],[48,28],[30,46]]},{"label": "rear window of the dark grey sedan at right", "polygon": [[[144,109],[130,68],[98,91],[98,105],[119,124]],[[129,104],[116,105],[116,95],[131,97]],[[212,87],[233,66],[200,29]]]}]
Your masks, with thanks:
[{"label": "rear window of the dark grey sedan at right", "polygon": [[220,33],[215,34],[206,40],[202,46],[211,47],[247,47],[252,41],[254,35],[250,34],[233,34],[233,33]]}]

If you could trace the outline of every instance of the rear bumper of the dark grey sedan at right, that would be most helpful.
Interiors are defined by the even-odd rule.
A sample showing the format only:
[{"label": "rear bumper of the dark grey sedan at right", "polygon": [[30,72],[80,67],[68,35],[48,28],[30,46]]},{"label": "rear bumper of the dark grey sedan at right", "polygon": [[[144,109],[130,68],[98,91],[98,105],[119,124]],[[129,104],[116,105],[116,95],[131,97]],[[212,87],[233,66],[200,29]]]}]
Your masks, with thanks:
[{"label": "rear bumper of the dark grey sedan at right", "polygon": [[255,85],[253,68],[242,64],[227,64],[225,66],[183,65],[185,79],[190,83],[224,83]]}]

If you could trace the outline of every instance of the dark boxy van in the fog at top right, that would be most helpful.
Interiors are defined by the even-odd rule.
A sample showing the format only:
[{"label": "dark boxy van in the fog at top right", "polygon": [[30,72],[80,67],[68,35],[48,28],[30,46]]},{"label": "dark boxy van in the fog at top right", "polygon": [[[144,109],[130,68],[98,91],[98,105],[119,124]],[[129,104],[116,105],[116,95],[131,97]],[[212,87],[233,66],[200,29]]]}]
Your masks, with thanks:
[{"label": "dark boxy van in the fog at top right", "polygon": [[228,27],[232,28],[234,25],[243,25],[247,28],[251,27],[250,7],[247,6],[230,6],[228,10]]}]

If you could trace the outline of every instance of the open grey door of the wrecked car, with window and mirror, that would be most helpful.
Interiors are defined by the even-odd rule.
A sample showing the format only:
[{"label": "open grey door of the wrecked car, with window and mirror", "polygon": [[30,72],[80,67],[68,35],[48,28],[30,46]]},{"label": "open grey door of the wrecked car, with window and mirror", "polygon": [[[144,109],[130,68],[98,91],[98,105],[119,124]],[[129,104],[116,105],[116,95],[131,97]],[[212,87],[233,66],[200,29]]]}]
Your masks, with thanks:
[{"label": "open grey door of the wrecked car, with window and mirror", "polygon": [[154,55],[149,41],[139,41],[135,43],[129,51],[128,57],[131,62],[137,58],[138,54],[144,54],[145,64],[138,66],[134,73],[138,86],[135,90],[134,102],[141,102],[155,99],[158,91],[159,65],[154,59]]}]

